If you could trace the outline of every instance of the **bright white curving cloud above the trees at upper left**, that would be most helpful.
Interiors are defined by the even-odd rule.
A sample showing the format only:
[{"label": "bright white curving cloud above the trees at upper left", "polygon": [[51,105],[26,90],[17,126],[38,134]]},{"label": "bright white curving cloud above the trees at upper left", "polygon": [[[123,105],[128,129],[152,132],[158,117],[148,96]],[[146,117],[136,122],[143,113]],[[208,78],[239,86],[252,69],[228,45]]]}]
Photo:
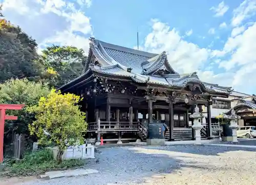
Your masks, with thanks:
[{"label": "bright white curving cloud above the trees at upper left", "polygon": [[[75,8],[77,6],[74,3],[80,7]],[[92,25],[90,18],[80,11],[80,8],[81,6],[90,7],[92,1],[77,0],[74,3],[65,0],[5,0],[3,11],[15,11],[22,15],[29,15],[33,11],[40,15],[54,13],[67,22],[66,28],[57,32],[53,30],[52,36],[39,43],[39,49],[46,47],[47,44],[60,44],[73,45],[88,51],[88,36],[92,34]],[[77,32],[81,34],[77,35]],[[87,37],[84,37],[85,35]]]}]

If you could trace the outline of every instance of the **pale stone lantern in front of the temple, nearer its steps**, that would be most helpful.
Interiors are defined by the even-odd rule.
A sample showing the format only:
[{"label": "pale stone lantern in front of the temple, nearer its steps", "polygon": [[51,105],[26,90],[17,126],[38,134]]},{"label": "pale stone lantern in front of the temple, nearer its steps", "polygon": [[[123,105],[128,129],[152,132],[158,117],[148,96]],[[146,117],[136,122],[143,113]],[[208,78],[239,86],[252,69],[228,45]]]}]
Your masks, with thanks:
[{"label": "pale stone lantern in front of the temple, nearer its steps", "polygon": [[194,119],[194,125],[192,126],[192,128],[195,130],[196,141],[200,142],[201,141],[201,129],[203,128],[201,121],[202,121],[202,118],[204,118],[204,115],[202,114],[202,112],[199,112],[199,108],[196,105],[195,112],[193,114],[191,114],[189,117]]}]

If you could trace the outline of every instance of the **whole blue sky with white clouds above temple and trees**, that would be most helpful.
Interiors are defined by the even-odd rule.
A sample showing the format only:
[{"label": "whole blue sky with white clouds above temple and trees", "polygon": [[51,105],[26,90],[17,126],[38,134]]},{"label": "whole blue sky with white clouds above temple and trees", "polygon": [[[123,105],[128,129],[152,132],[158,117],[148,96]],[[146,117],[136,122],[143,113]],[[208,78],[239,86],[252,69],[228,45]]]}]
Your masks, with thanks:
[{"label": "whole blue sky with white clouds above temple and trees", "polygon": [[0,0],[37,40],[88,51],[89,36],[161,53],[179,73],[255,94],[256,0]]}]

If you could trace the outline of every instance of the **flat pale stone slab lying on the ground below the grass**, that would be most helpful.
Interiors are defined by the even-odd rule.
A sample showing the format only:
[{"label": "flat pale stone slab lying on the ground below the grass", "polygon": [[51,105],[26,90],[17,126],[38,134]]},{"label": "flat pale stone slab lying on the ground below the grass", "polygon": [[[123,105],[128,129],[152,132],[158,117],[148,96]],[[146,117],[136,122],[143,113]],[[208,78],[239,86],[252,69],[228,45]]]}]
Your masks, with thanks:
[{"label": "flat pale stone slab lying on the ground below the grass", "polygon": [[65,170],[65,171],[53,171],[53,172],[46,172],[44,175],[41,175],[41,178],[60,178],[60,177],[73,177],[73,176],[81,176],[81,175],[88,175],[92,173],[99,173],[98,170],[94,169],[76,169],[76,170]]}]

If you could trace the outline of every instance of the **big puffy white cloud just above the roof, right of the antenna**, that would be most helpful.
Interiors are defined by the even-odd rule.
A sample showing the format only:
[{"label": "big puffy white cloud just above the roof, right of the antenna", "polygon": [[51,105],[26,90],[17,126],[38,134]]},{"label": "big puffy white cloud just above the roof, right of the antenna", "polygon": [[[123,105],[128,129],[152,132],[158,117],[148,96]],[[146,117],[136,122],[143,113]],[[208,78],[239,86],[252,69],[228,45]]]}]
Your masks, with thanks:
[{"label": "big puffy white cloud just above the roof, right of the antenna", "polygon": [[183,40],[176,29],[170,29],[157,19],[152,20],[152,28],[145,38],[144,50],[153,53],[166,51],[169,62],[180,73],[195,72],[204,65],[209,54],[207,49]]}]

